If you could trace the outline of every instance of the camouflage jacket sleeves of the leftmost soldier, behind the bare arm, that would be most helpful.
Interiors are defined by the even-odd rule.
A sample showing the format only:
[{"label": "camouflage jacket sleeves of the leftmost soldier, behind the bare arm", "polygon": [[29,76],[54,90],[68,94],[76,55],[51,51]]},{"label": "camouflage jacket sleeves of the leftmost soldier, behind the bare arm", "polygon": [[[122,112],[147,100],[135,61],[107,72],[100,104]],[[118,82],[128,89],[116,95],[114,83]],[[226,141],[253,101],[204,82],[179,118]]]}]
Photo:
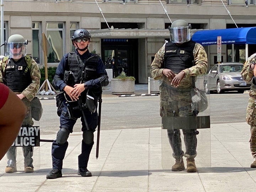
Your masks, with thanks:
[{"label": "camouflage jacket sleeves of the leftmost soldier, behind the bare arm", "polygon": [[[32,99],[36,96],[41,78],[39,67],[33,58],[31,59],[31,64],[30,76],[32,82],[25,90],[21,92],[21,94],[25,95],[28,101],[32,101]],[[3,72],[5,71],[5,67],[5,62],[0,60],[0,82],[3,82]]]}]

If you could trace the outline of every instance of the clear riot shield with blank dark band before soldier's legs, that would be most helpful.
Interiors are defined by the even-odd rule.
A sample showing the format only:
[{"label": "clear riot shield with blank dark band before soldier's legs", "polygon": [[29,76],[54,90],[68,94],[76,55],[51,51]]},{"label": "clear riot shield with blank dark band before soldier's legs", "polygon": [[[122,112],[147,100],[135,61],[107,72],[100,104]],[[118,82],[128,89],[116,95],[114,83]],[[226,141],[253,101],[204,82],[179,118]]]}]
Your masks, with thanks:
[{"label": "clear riot shield with blank dark band before soldier's legs", "polygon": [[[183,158],[195,160],[197,170],[210,167],[210,94],[205,92],[207,78],[200,76],[196,88],[205,94],[208,106],[204,111],[194,111],[190,117],[162,117],[162,168],[171,170],[175,161]],[[186,143],[185,143],[186,142]],[[196,154],[196,155],[195,155]]]}]

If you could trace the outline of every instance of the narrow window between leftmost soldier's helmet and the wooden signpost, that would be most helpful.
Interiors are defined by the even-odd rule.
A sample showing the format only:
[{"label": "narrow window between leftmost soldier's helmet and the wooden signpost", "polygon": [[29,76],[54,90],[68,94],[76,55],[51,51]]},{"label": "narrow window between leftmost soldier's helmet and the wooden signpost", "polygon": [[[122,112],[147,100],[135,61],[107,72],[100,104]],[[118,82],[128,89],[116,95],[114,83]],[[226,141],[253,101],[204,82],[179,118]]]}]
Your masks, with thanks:
[{"label": "narrow window between leftmost soldier's helmet and the wooden signpost", "polygon": [[32,22],[32,56],[33,59],[40,63],[40,42],[41,42],[41,25],[39,22]]}]

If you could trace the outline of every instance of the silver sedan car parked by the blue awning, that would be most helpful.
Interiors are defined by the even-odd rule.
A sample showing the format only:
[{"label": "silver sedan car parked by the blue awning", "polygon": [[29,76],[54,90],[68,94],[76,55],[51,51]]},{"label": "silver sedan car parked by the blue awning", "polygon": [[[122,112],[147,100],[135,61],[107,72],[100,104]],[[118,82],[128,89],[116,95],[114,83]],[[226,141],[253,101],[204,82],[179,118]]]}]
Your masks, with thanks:
[{"label": "silver sedan car parked by the blue awning", "polygon": [[252,82],[245,82],[241,76],[242,63],[226,62],[216,64],[210,69],[204,79],[204,89],[206,93],[217,91],[218,94],[224,91],[238,91],[244,93],[250,90]]}]

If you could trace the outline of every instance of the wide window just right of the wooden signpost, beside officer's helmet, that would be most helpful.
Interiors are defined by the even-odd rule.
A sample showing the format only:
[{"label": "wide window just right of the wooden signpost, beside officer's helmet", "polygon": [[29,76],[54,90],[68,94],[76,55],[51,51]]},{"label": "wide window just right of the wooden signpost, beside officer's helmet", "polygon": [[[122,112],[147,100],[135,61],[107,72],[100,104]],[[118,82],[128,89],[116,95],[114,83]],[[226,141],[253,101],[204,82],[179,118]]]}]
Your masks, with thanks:
[{"label": "wide window just right of the wooden signpost, beside officer's helmet", "polygon": [[47,63],[59,63],[63,56],[64,23],[46,23],[46,37],[50,43]]}]

